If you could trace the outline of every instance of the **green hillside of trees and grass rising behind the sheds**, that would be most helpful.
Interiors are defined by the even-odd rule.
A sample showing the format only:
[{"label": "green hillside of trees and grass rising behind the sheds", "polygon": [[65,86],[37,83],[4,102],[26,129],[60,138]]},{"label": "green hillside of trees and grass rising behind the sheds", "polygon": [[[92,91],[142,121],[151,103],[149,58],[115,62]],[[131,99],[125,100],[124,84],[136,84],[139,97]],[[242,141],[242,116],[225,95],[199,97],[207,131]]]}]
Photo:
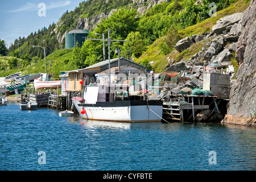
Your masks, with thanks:
[{"label": "green hillside of trees and grass rising behind the sheds", "polygon": [[[59,22],[52,23],[48,28],[42,28],[27,38],[19,38],[22,43],[19,47],[11,46],[8,56],[0,57],[0,77],[15,72],[27,73],[45,72],[43,49],[32,48],[33,45],[46,47],[47,69],[49,61],[53,60],[53,74],[60,75],[60,71],[69,71],[88,67],[103,60],[102,42],[86,40],[80,47],[72,49],[60,49],[63,43],[57,41],[57,36],[65,31],[76,28],[81,18],[92,19],[101,13],[109,13],[111,16],[102,19],[96,28],[90,30],[90,38],[100,38],[94,33],[108,35],[111,39],[129,40],[129,42],[112,42],[110,46],[111,58],[117,57],[115,49],[121,49],[121,56],[141,63],[156,72],[163,71],[167,66],[167,58],[173,63],[188,58],[200,51],[202,45],[197,43],[181,53],[174,50],[178,40],[193,34],[199,35],[209,32],[216,21],[223,16],[244,11],[249,6],[249,0],[172,0],[164,1],[151,7],[152,0],[144,1],[143,5],[132,1],[106,1],[88,0],[81,2],[74,11],[65,12]],[[217,16],[209,16],[209,3],[216,3]],[[143,15],[138,7],[151,7]],[[65,41],[64,41],[65,42]],[[105,44],[106,55],[108,45]],[[130,52],[131,50],[131,52]],[[108,57],[107,57],[108,58]],[[154,61],[154,64],[149,64]],[[55,77],[56,77],[55,76]]]}]

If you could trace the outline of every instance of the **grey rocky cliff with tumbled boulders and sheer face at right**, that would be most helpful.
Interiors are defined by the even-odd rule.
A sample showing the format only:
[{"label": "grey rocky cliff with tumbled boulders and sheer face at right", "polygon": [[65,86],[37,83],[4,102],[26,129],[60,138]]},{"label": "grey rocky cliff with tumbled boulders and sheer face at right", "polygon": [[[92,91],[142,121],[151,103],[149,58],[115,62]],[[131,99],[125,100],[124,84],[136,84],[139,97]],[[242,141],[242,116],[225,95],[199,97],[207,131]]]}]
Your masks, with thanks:
[{"label": "grey rocky cliff with tumbled boulders and sheer face at right", "polygon": [[[189,59],[173,64],[168,60],[166,71],[179,72],[180,76],[196,77],[203,80],[204,67],[225,70],[231,76],[230,102],[228,113],[222,123],[256,126],[256,0],[242,13],[225,16],[212,27],[210,34],[192,35],[177,42],[176,52],[201,51]],[[175,52],[175,51],[174,51]],[[235,75],[231,62],[239,63]],[[168,59],[168,58],[167,58]],[[233,68],[233,69],[232,69]],[[236,80],[234,80],[236,78]]]}]

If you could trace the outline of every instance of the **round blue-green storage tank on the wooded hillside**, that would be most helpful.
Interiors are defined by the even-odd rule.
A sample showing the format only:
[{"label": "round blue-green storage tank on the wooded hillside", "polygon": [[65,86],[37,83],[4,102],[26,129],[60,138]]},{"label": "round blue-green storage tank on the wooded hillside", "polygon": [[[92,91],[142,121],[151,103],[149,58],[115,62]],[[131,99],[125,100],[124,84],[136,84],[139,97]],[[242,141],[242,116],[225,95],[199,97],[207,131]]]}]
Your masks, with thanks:
[{"label": "round blue-green storage tank on the wooded hillside", "polygon": [[86,30],[72,30],[65,35],[65,48],[73,48],[76,46],[76,42],[79,42],[80,46],[85,42],[89,32]]}]

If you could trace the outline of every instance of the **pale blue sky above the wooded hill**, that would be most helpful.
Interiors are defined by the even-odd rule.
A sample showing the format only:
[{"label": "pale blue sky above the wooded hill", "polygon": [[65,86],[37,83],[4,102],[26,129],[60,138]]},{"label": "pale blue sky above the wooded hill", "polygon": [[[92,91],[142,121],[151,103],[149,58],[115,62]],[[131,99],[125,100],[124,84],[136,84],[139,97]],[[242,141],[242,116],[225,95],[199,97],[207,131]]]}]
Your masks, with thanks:
[{"label": "pale blue sky above the wooded hill", "polygon": [[65,11],[73,11],[82,1],[0,0],[0,39],[5,40],[9,46],[19,36],[26,38],[31,32],[48,28],[52,22],[57,23]]}]

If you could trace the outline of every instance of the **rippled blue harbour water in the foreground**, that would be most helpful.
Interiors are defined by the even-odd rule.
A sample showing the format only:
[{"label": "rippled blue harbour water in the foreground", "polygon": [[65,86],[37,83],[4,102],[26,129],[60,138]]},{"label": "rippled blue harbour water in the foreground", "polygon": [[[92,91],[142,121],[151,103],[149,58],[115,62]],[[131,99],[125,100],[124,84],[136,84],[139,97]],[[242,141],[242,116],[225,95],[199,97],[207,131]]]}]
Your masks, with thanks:
[{"label": "rippled blue harbour water in the foreground", "polygon": [[[255,170],[256,129],[118,123],[0,106],[0,170]],[[46,154],[40,165],[39,151]],[[209,164],[209,152],[217,164]]]}]

